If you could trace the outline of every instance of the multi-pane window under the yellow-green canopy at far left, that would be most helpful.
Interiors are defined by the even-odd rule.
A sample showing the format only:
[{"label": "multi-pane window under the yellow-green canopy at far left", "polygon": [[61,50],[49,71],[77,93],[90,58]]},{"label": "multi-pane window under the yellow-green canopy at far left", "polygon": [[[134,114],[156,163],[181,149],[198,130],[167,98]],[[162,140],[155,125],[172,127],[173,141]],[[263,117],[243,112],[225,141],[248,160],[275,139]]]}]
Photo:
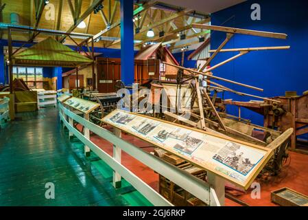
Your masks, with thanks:
[{"label": "multi-pane window under the yellow-green canopy at far left", "polygon": [[42,67],[13,67],[14,78],[22,78],[31,89],[43,89]]}]

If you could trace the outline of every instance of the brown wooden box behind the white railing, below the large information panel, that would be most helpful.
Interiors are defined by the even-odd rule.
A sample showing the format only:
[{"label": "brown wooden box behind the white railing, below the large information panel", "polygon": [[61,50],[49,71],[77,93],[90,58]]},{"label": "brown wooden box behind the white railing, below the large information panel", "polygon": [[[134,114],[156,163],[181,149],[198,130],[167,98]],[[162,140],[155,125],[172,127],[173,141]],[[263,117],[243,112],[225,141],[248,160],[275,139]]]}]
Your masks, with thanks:
[{"label": "brown wooden box behind the white railing, below the large information panel", "polygon": [[[171,153],[156,152],[156,155],[200,179],[204,180],[206,177],[205,170],[197,168],[196,166],[185,162],[185,160],[180,159],[179,157],[176,157]],[[189,192],[180,188],[180,186],[177,186],[172,181],[169,181],[169,179],[163,177],[162,175],[159,175],[158,179],[158,192],[163,195],[163,197],[165,197],[168,201],[173,203],[174,206],[206,206],[203,201],[201,201],[197,197],[194,197]]]}]

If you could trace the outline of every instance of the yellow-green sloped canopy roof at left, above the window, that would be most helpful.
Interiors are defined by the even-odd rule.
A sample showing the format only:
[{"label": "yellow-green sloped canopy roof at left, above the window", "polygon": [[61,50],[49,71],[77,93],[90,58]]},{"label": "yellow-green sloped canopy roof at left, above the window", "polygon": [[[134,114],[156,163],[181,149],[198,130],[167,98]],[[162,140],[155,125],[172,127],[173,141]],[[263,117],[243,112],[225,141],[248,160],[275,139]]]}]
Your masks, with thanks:
[{"label": "yellow-green sloped canopy roof at left, above the window", "polygon": [[76,67],[93,61],[51,37],[12,56],[14,65]]}]

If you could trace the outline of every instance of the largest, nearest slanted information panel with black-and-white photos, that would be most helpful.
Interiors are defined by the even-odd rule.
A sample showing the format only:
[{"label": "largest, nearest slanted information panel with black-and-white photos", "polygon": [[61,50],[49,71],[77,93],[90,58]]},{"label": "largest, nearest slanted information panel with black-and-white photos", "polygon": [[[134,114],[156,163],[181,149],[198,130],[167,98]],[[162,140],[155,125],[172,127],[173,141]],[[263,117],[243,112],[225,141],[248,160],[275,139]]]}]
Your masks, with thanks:
[{"label": "largest, nearest slanted information panel with black-and-white photos", "polygon": [[245,189],[272,155],[269,148],[118,109],[102,121]]}]

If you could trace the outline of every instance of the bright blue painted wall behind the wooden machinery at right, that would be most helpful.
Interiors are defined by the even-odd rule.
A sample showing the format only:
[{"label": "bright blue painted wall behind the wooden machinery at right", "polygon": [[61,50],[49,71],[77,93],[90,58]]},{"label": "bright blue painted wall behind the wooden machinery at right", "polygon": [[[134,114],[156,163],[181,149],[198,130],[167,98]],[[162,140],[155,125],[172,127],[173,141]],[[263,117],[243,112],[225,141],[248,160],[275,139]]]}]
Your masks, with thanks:
[{"label": "bright blue painted wall behind the wooden machinery at right", "polygon": [[[250,19],[252,12],[250,6],[252,3],[261,5],[261,21],[252,21]],[[222,25],[224,23],[224,26],[234,28],[281,32],[288,35],[287,40],[281,40],[236,34],[225,48],[291,46],[290,50],[250,52],[215,69],[213,73],[216,76],[264,89],[264,92],[258,92],[245,87],[222,83],[232,89],[249,94],[271,97],[283,95],[288,90],[302,94],[303,91],[308,89],[308,62],[305,61],[308,55],[307,8],[308,1],[248,0],[212,14],[212,25]],[[216,49],[224,41],[225,37],[225,33],[213,32],[211,35],[211,48]],[[233,52],[220,53],[214,58],[211,65],[220,63],[235,54]],[[230,93],[226,93],[224,98],[245,101],[254,99]],[[228,112],[237,115],[237,108],[229,107]],[[241,115],[244,118],[252,119],[254,123],[263,124],[263,117],[250,110],[243,109]]]}]

